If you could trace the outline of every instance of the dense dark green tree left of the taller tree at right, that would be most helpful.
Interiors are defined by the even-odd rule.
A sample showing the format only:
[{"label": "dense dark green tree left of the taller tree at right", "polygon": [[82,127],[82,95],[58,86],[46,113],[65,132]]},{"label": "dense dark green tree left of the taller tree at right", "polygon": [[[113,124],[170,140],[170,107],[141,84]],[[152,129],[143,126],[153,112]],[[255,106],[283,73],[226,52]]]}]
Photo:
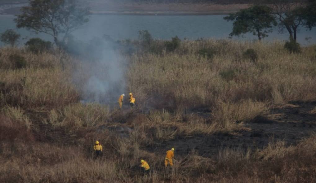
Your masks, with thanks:
[{"label": "dense dark green tree left of the taller tree at right", "polygon": [[276,21],[270,13],[269,7],[255,5],[225,16],[225,20],[233,22],[233,31],[229,35],[239,36],[251,32],[253,35],[257,35],[259,40],[267,37],[267,33],[272,32],[272,26],[276,25]]}]

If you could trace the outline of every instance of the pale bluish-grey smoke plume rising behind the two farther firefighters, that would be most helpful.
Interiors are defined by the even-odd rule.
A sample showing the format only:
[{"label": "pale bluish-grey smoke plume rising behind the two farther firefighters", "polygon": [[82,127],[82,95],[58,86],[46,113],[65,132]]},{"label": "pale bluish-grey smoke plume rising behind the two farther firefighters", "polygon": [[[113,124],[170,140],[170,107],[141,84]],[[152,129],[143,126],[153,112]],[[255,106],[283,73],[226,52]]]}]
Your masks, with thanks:
[{"label": "pale bluish-grey smoke plume rising behind the two farther firefighters", "polygon": [[73,73],[82,102],[117,103],[126,90],[126,60],[115,49],[115,42],[105,38],[94,38],[90,43],[73,39],[67,49],[82,60]]}]

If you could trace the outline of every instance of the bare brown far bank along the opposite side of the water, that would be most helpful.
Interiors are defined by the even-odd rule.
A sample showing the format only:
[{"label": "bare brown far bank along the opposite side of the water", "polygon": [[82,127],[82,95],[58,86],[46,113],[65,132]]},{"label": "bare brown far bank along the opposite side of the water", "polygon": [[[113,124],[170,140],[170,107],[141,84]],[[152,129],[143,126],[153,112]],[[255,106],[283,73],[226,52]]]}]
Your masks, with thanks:
[{"label": "bare brown far bank along the opposite side of the water", "polygon": [[[0,15],[17,15],[26,3],[0,4]],[[227,15],[249,4],[107,4],[95,3],[91,6],[91,15]]]}]

